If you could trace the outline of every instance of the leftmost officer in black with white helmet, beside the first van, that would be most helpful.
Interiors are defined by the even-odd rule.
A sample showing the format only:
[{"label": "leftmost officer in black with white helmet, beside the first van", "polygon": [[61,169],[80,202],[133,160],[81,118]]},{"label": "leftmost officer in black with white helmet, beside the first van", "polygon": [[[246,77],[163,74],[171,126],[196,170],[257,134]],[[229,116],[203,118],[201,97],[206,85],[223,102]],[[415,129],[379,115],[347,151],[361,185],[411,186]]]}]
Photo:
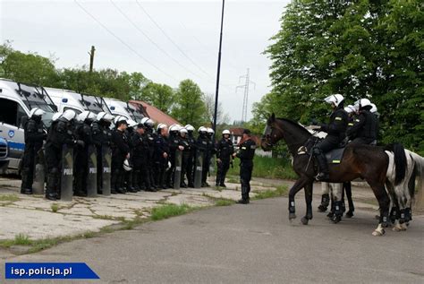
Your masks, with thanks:
[{"label": "leftmost officer in black with white helmet, beside the first van", "polygon": [[45,114],[41,108],[32,108],[30,119],[24,125],[25,150],[23,151],[21,168],[21,194],[32,194],[35,160],[38,151],[47,138],[41,116]]}]

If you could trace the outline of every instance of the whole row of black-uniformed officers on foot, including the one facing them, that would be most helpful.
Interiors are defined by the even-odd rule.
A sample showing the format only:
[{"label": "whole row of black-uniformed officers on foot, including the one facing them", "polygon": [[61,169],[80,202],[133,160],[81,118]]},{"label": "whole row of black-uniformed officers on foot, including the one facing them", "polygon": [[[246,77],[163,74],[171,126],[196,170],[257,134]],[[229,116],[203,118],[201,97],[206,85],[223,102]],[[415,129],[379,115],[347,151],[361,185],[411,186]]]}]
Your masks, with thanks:
[{"label": "whole row of black-uniformed officers on foot, including the one facing them", "polygon": [[[57,113],[52,124],[45,130],[41,120],[44,111],[34,108],[24,126],[25,151],[21,168],[22,194],[32,194],[34,168],[38,153],[45,143],[45,164],[47,167],[46,198],[60,199],[60,179],[64,145],[73,149],[73,194],[87,196],[89,174],[89,151],[97,151],[98,194],[103,191],[105,173],[105,147],[112,150],[111,194],[136,193],[141,190],[157,191],[174,187],[176,152],[182,152],[181,187],[194,187],[196,172],[195,159],[203,158],[201,186],[209,186],[208,172],[212,157],[216,155],[216,186],[225,187],[225,175],[233,158],[241,159],[242,203],[249,202],[252,159],[256,148],[250,139],[250,131],[243,133],[240,150],[235,153],[230,132],[225,130],[222,139],[213,142],[211,128],[199,127],[198,138],[194,137],[192,125],[159,124],[148,117],[139,124],[124,116],[111,116],[105,112],[95,115],[84,111],[76,115],[71,109]],[[114,128],[111,128],[114,119]],[[94,147],[93,147],[94,146]],[[187,183],[186,183],[187,181]]]}]

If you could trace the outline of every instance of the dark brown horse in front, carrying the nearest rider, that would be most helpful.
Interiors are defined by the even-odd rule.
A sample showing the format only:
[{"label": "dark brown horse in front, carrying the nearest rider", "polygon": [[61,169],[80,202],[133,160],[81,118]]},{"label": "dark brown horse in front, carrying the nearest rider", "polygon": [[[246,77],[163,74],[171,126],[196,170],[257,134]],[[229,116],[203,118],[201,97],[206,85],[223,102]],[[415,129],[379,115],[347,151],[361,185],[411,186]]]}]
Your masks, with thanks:
[{"label": "dark brown horse in front, carrying the nearest rider", "polygon": [[[289,219],[295,219],[294,196],[302,188],[305,189],[306,215],[301,219],[307,225],[312,219],[312,189],[317,168],[314,167],[314,160],[310,160],[310,155],[299,154],[298,150],[311,137],[311,133],[303,126],[292,120],[276,118],[273,114],[267,120],[267,127],[262,137],[261,146],[264,151],[269,151],[280,140],[284,140],[293,156],[293,169],[299,176],[289,193]],[[394,159],[402,160],[404,151],[402,145],[396,144],[399,151],[394,151]],[[402,150],[402,151],[401,151]],[[383,148],[369,145],[349,145],[343,152],[340,164],[329,165],[330,183],[343,183],[352,181],[355,178],[363,178],[372,188],[379,207],[380,219],[378,227],[373,232],[374,236],[384,234],[384,228],[388,225],[388,214],[390,199],[386,193],[386,171],[388,166],[388,156]],[[401,165],[402,163],[399,163]],[[399,167],[396,175],[400,179],[404,176],[405,167]],[[403,176],[402,176],[403,175]]]}]

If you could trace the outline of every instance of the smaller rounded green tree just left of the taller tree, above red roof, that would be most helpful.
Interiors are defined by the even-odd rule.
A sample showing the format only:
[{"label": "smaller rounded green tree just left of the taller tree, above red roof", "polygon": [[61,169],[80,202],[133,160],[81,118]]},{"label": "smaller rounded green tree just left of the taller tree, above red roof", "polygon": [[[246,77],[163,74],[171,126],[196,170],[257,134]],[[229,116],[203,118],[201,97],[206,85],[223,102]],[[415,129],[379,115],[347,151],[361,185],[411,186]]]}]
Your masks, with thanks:
[{"label": "smaller rounded green tree just left of the taller tree, above red roof", "polygon": [[159,108],[165,113],[170,113],[174,105],[174,90],[168,85],[148,82],[141,90],[140,99],[145,100],[152,106]]}]

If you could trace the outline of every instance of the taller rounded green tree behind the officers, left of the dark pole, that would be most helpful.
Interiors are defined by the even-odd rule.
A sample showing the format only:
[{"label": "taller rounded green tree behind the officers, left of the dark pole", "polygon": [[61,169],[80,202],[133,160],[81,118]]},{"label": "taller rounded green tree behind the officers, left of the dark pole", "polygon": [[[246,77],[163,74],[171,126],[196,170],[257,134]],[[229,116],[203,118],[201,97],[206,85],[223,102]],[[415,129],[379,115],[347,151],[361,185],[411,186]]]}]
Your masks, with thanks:
[{"label": "taller rounded green tree behind the officers, left of the dark pole", "polygon": [[199,86],[190,79],[180,82],[175,94],[172,116],[183,125],[191,124],[198,127],[208,119],[206,115],[204,95]]}]

